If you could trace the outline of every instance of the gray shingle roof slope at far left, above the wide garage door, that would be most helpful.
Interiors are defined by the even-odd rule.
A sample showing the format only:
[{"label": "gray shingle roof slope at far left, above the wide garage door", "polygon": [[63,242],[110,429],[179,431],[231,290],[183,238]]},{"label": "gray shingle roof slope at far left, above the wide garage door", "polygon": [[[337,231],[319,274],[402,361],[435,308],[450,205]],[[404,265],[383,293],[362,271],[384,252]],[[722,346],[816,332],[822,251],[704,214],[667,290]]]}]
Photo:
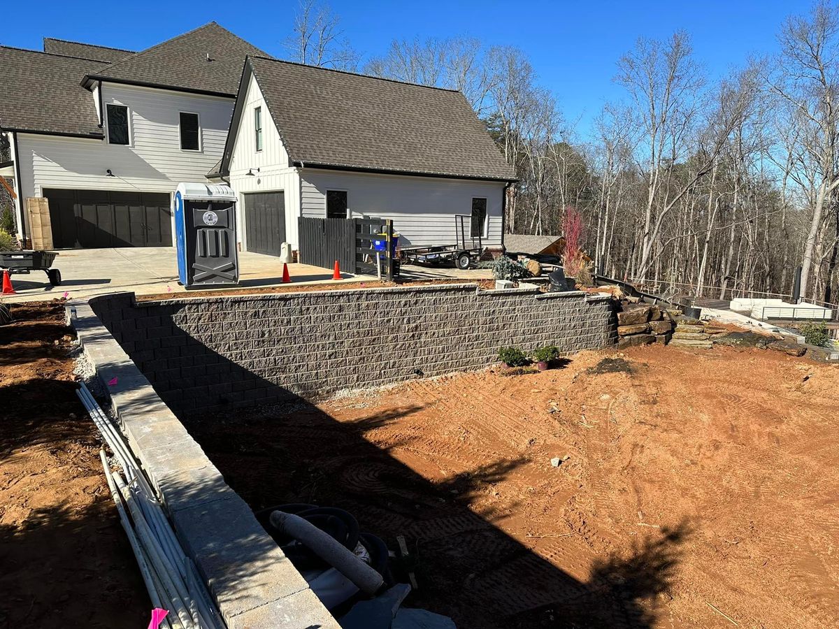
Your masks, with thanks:
[{"label": "gray shingle roof slope at far left, above the wide garage door", "polygon": [[91,93],[79,85],[102,61],[0,46],[4,129],[102,138]]}]

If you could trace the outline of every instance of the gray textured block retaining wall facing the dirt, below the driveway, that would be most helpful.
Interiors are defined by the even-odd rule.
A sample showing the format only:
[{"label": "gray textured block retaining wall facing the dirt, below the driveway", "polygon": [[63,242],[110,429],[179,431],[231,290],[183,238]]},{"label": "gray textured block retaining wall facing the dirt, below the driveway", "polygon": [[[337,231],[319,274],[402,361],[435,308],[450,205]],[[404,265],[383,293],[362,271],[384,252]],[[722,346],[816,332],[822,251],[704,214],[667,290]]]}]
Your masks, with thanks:
[{"label": "gray textured block retaining wall facing the dirt, below the driveway", "polygon": [[180,413],[480,369],[500,346],[617,340],[608,296],[471,284],[90,304]]}]

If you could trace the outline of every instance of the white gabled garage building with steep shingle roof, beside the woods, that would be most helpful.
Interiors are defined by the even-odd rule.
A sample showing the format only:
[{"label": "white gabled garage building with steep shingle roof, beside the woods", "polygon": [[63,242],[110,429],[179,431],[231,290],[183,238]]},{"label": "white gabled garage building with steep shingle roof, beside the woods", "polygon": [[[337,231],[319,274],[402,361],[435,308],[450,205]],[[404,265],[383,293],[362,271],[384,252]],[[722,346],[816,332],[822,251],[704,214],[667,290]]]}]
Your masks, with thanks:
[{"label": "white gabled garage building with steep shingle roof, beside the woods", "polygon": [[[298,247],[298,217],[393,219],[400,242],[455,242],[455,216],[501,247],[506,163],[458,91],[250,55],[215,174],[243,246]],[[469,235],[467,235],[469,236]]]}]

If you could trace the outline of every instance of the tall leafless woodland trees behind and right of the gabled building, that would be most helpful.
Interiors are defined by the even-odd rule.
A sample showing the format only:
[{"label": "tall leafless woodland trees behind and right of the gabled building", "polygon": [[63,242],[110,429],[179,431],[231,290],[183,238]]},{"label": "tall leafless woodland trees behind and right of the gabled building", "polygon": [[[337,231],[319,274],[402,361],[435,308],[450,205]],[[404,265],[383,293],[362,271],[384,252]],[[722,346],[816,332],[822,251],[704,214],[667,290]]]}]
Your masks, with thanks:
[{"label": "tall leafless woodland trees behind and right of the gabled building", "polygon": [[586,137],[520,49],[394,40],[362,63],[333,13],[314,0],[302,8],[295,60],[463,92],[519,177],[509,232],[560,234],[574,209],[584,248],[612,277],[722,298],[790,294],[800,266],[802,295],[837,301],[835,4],[788,18],[778,55],[743,60],[722,80],[702,69],[689,34],[638,39],[616,60],[625,97]]}]

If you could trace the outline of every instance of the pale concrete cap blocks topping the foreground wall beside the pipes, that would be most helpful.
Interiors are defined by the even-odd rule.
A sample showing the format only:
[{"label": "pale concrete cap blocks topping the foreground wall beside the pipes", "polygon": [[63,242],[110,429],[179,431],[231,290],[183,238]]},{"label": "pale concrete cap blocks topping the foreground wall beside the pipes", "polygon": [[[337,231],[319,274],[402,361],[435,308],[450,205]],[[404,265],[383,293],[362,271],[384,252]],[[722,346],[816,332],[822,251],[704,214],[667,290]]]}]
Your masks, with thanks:
[{"label": "pale concrete cap blocks topping the foreground wall beside the pipes", "polygon": [[[91,299],[95,301],[94,298]],[[133,294],[108,295],[133,304]],[[91,308],[66,304],[68,322],[108,391],[122,432],[210,586],[229,629],[339,629],[175,414]],[[108,385],[113,378],[117,382]]]}]

